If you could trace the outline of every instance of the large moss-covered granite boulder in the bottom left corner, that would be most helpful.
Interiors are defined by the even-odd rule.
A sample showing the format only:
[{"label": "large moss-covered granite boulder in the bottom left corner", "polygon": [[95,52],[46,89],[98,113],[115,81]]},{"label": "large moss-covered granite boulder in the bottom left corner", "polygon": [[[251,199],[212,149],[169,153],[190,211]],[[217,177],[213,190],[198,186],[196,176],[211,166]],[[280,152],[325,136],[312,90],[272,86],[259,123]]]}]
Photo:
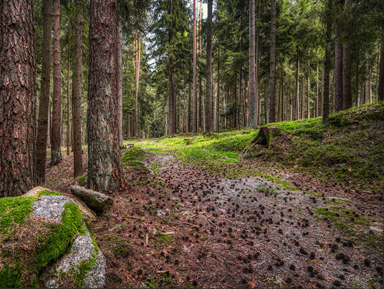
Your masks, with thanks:
[{"label": "large moss-covered granite boulder in the bottom left corner", "polygon": [[105,257],[71,198],[0,198],[0,287],[103,287]]}]

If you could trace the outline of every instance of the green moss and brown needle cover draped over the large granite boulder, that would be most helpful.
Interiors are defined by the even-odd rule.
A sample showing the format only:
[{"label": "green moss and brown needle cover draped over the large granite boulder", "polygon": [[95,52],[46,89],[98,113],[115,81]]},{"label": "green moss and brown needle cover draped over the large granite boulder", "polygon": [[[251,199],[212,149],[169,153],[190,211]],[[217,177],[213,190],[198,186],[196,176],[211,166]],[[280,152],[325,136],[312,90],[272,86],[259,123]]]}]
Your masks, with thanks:
[{"label": "green moss and brown needle cover draped over the large granite boulder", "polygon": [[[5,244],[1,249],[3,268],[0,271],[0,287],[35,287],[40,270],[64,254],[78,232],[85,233],[80,209],[74,203],[64,205],[59,223],[26,218],[37,200],[37,197],[0,200],[0,237]],[[11,232],[10,228],[13,228]],[[36,236],[32,233],[34,228],[39,229]],[[20,230],[28,233],[24,239],[20,239],[23,234],[16,234]],[[29,245],[26,247],[28,254],[18,248],[19,242]]]}]

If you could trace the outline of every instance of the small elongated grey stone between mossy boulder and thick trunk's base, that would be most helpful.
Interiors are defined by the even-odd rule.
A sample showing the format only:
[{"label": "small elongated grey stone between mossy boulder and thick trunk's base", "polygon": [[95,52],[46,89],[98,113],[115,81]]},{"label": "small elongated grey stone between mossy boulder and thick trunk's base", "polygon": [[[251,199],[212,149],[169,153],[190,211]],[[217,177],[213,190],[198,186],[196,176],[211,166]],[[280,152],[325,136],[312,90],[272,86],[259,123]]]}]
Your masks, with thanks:
[{"label": "small elongated grey stone between mossy boulder and thick trunk's base", "polygon": [[98,212],[108,210],[113,204],[113,200],[110,197],[93,190],[71,186],[70,191],[80,197],[89,208]]}]

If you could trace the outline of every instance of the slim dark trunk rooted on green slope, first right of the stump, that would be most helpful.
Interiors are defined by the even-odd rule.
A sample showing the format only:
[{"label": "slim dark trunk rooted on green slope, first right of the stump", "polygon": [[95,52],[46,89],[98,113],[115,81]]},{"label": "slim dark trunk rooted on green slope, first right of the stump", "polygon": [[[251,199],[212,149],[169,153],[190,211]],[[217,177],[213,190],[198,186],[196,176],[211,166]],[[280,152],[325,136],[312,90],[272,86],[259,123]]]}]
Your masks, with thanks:
[{"label": "slim dark trunk rooted on green slope, first right of the stump", "polygon": [[323,124],[330,123],[330,69],[331,69],[331,31],[332,31],[332,1],[327,1],[325,16],[325,56],[324,56],[324,99],[323,99]]}]

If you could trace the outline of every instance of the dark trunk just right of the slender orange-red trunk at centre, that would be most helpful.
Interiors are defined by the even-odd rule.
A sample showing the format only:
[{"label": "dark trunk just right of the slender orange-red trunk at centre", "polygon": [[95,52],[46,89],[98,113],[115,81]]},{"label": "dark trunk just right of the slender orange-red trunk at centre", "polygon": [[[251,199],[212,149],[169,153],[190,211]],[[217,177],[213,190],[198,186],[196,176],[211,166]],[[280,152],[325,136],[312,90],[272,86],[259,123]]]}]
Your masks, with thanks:
[{"label": "dark trunk just right of the slender orange-red trunk at centre", "polygon": [[208,0],[207,18],[207,72],[206,72],[206,112],[205,132],[212,132],[212,6],[213,0]]}]

